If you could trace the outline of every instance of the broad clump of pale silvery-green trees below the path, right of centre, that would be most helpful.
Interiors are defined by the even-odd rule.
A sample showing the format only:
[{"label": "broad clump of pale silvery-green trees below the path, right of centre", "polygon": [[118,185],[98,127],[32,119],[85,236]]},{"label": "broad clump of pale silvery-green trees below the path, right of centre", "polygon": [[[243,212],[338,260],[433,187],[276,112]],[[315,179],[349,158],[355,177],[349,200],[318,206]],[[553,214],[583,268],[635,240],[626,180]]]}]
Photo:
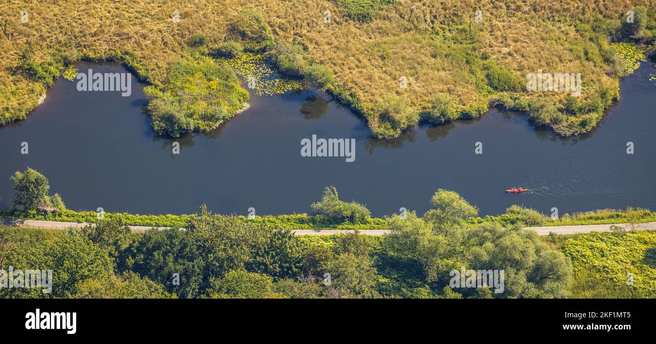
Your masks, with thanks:
[{"label": "broad clump of pale silvery-green trees below the path, right of centre", "polygon": [[450,271],[504,270],[504,290],[491,293],[479,288],[455,288],[467,297],[565,297],[571,282],[571,265],[565,256],[548,248],[534,231],[483,223],[472,229],[434,234],[421,219],[388,220],[385,238],[390,252],[417,262],[434,290],[449,286]]}]

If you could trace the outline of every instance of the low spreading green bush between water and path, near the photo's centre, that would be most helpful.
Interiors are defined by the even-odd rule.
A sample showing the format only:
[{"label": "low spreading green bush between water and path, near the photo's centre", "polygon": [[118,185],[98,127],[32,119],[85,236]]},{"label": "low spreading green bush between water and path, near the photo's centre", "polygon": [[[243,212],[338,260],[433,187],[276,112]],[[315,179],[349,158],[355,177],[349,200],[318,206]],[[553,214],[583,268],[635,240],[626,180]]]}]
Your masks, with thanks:
[{"label": "low spreading green bush between water and path, near the photo's centre", "polygon": [[325,187],[321,201],[312,203],[312,209],[326,216],[330,221],[349,221],[350,223],[366,223],[371,218],[371,212],[355,201],[340,201],[335,187]]}]

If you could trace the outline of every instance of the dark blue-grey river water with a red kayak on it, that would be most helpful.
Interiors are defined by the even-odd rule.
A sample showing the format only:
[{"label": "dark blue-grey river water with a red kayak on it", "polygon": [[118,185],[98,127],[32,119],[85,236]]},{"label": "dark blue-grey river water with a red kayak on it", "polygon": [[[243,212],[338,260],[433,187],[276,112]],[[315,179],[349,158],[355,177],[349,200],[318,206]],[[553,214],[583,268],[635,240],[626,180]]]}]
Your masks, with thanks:
[{"label": "dark blue-grey river water with a red kayak on it", "polygon": [[[85,71],[125,72],[86,65]],[[621,83],[621,101],[594,132],[563,139],[535,130],[524,115],[492,109],[482,119],[420,127],[392,141],[371,138],[348,107],[306,90],[251,97],[251,108],[211,134],[155,138],[146,98],[79,92],[60,78],[26,121],[0,128],[0,201],[10,208],[9,176],[27,166],[50,180],[68,208],[135,214],[312,212],[323,187],[374,216],[428,210],[438,189],[457,191],[482,214],[523,204],[549,214],[626,206],[656,209],[656,69],[643,64]],[[301,157],[304,138],[354,138],[356,159]],[[179,155],[172,154],[174,141]],[[29,154],[21,154],[28,142]],[[483,154],[474,153],[476,142]],[[627,142],[634,154],[626,153]],[[504,193],[512,186],[531,189]]]}]

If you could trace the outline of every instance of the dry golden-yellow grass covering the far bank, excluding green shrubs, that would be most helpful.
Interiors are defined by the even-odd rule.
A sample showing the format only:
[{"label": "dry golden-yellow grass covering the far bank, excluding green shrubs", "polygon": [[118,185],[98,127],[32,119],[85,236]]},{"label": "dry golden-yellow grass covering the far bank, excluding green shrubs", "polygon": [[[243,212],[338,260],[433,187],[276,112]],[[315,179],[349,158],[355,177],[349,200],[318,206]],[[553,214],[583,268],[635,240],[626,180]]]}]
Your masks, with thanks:
[{"label": "dry golden-yellow grass covering the far bank, excluding green shrubs", "polygon": [[[0,116],[26,113],[45,92],[44,86],[16,73],[20,53],[28,46],[37,51],[37,60],[51,54],[132,52],[149,81],[158,85],[192,35],[206,35],[214,45],[222,42],[230,16],[242,6],[258,9],[276,39],[302,43],[310,58],[335,72],[337,83],[361,101],[365,112],[373,111],[383,94],[403,96],[417,111],[426,109],[438,93],[448,94],[458,109],[493,99],[477,91],[474,76],[449,54],[457,45],[451,43],[458,37],[454,31],[460,28],[471,28],[478,37],[475,54],[489,56],[521,79],[537,69],[582,73],[584,100],[594,85],[615,90],[619,84],[609,76],[610,66],[581,59],[571,49],[585,41],[573,23],[596,14],[619,18],[634,5],[650,8],[651,2],[399,0],[372,22],[359,23],[325,0],[10,0],[0,5]],[[20,21],[22,10],[29,12],[26,24]],[[178,24],[171,20],[174,10],[180,12]],[[323,22],[325,10],[332,12],[330,24]],[[482,24],[474,23],[476,10],[483,12]],[[401,76],[409,81],[405,89],[399,88]],[[562,102],[565,94],[539,96]]]}]

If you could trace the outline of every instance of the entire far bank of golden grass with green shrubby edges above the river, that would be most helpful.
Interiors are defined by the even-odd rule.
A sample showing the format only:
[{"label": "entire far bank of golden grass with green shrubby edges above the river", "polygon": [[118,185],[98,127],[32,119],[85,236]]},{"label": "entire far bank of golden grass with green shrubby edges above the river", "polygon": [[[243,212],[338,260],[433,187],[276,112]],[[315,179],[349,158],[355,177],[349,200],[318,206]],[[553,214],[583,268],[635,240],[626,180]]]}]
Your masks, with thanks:
[{"label": "entire far bank of golden grass with green shrubby edges above the river", "polygon": [[[489,104],[528,110],[535,123],[573,135],[594,127],[617,99],[627,62],[609,42],[626,39],[649,46],[653,41],[656,9],[646,1],[502,5],[455,0],[7,4],[0,30],[0,124],[24,119],[64,67],[82,58],[127,64],[157,90],[177,97],[184,85],[176,73],[184,70],[190,73],[184,77],[195,77],[194,68],[180,66],[190,50],[235,52],[235,45],[225,45],[239,43],[247,52],[271,52],[268,58],[281,71],[352,105],[375,136],[398,136],[420,120],[478,117]],[[644,12],[636,11],[636,18],[644,20],[623,24],[626,10],[636,5],[645,6]],[[26,23],[21,22],[22,10],[29,13]],[[482,22],[476,10],[482,11]],[[174,11],[179,22],[173,20]],[[302,58],[295,58],[295,51]],[[537,69],[581,73],[581,96],[526,92],[525,76]],[[402,77],[407,87],[400,87]],[[221,80],[236,87],[234,79],[216,71],[201,73],[194,81],[200,89],[191,98],[171,100],[153,92],[152,100],[167,100],[151,108],[154,119],[167,124],[161,131],[203,131],[234,115],[243,93],[238,88],[213,92],[213,81]],[[214,98],[194,110],[190,104],[208,94]],[[165,111],[178,108],[187,115]],[[199,121],[201,113],[211,116],[197,126],[189,123]]]}]

